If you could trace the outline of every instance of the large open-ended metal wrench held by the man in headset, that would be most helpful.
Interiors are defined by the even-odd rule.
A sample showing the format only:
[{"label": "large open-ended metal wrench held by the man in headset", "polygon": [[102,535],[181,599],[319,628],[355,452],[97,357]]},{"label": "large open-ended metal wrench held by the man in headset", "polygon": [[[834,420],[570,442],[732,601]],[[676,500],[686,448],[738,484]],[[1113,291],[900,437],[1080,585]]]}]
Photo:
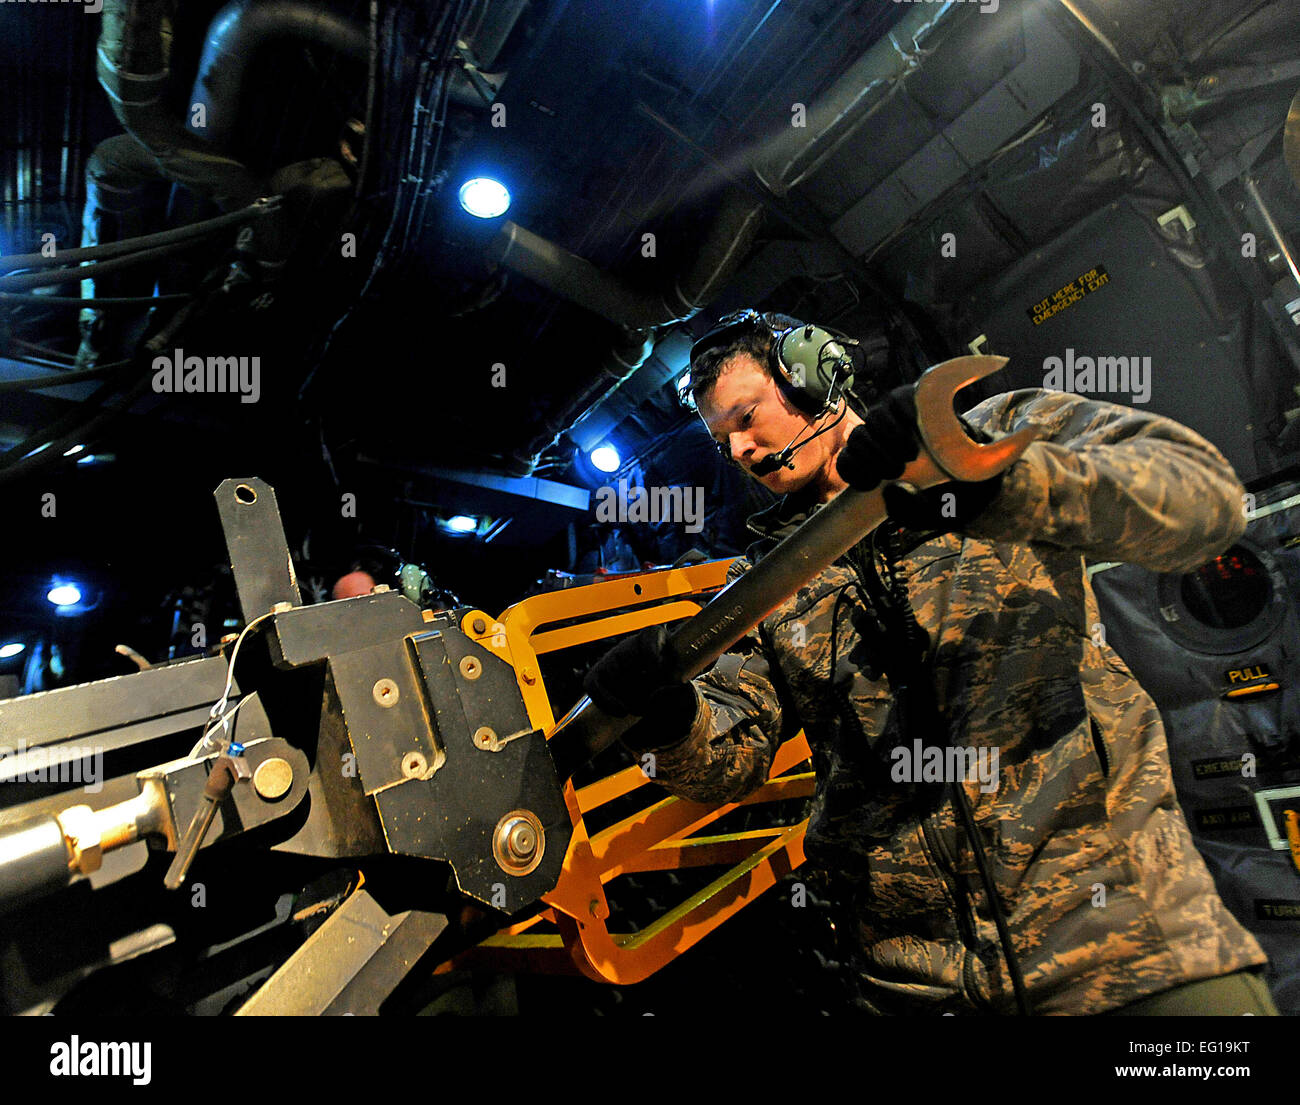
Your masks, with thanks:
[{"label": "large open-ended metal wrench held by the man in headset", "polygon": [[[953,410],[957,393],[1004,364],[1006,358],[1001,356],[959,356],[936,364],[916,381],[916,432],[922,450],[897,482],[923,490],[949,480],[988,480],[1010,468],[1030,442],[1043,436],[1037,428],[1024,426],[980,443],[971,441],[958,421]],[[673,632],[668,640],[673,675],[684,682],[706,672],[803,584],[880,525],[885,515],[880,488],[871,491],[848,488],[836,495]],[[546,734],[560,779],[572,776],[636,722],[634,716],[606,714],[584,696]]]}]

